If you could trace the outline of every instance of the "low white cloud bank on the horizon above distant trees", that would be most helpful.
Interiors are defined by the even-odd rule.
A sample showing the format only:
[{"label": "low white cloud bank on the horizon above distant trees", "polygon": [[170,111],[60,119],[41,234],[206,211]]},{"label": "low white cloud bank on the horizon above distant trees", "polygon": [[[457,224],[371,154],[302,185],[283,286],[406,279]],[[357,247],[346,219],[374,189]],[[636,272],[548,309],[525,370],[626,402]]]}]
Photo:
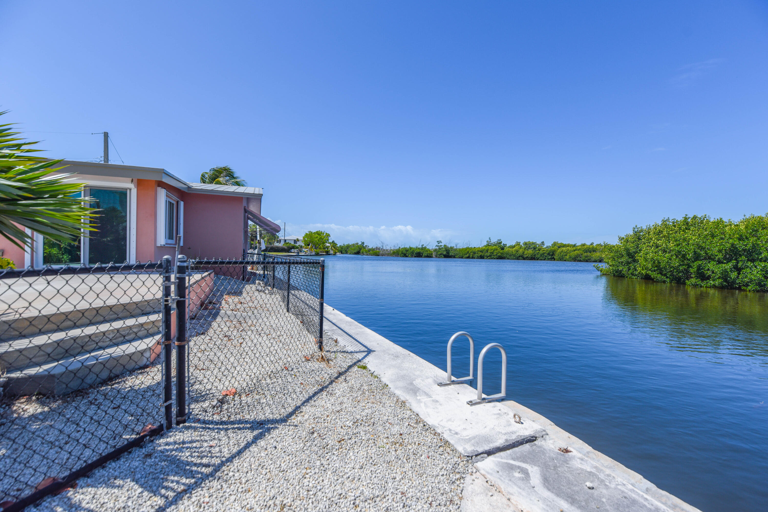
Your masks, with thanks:
[{"label": "low white cloud bank on the horizon above distant trees", "polygon": [[[272,220],[272,219],[270,219]],[[282,221],[274,222],[283,225]],[[437,240],[449,242],[454,234],[451,230],[419,229],[413,226],[337,226],[336,224],[286,224],[290,236],[302,236],[307,231],[322,230],[330,233],[336,243],[365,242],[369,246],[385,243],[388,246],[415,245],[424,243],[434,245]]]}]

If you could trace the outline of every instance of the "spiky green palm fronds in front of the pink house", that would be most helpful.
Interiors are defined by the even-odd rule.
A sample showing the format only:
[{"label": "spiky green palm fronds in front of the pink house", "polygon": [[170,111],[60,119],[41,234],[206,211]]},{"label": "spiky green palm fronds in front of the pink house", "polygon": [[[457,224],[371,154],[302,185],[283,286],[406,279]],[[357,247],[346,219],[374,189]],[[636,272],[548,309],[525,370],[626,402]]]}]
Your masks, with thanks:
[{"label": "spiky green palm fronds in front of the pink house", "polygon": [[[8,111],[0,112],[0,115]],[[71,173],[52,174],[61,160],[32,157],[36,151],[16,137],[13,124],[0,124],[0,235],[15,246],[31,243],[24,228],[59,243],[71,242],[83,231],[94,231],[97,210],[90,197],[81,197],[82,183],[71,183]]]}]

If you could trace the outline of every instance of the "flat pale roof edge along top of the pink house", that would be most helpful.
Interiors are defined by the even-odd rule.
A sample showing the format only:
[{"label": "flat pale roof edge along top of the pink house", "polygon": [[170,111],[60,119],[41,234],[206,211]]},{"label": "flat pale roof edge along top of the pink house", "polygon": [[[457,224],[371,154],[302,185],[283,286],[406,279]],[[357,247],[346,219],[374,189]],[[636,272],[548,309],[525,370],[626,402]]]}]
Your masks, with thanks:
[{"label": "flat pale roof edge along top of the pink house", "polygon": [[189,193],[209,193],[220,196],[262,197],[260,187],[231,187],[229,185],[209,185],[207,183],[187,183],[180,177],[160,167],[138,167],[124,164],[102,164],[101,162],[79,162],[63,160],[62,173],[78,173],[89,176],[108,176],[115,178],[137,178],[139,180],[164,181],[169,185]]}]

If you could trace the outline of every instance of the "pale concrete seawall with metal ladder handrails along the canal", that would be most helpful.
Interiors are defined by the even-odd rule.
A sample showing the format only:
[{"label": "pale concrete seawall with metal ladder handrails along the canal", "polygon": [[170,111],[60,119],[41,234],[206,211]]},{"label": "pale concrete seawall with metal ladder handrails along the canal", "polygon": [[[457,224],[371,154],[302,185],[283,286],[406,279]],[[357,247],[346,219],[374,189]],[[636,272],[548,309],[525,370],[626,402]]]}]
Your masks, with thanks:
[{"label": "pale concrete seawall with metal ladder handrails along the canal", "polygon": [[470,407],[475,389],[439,387],[443,369],[333,307],[326,307],[325,318],[326,339],[361,352],[382,382],[472,457],[485,478],[468,477],[462,510],[698,510],[515,401]]}]

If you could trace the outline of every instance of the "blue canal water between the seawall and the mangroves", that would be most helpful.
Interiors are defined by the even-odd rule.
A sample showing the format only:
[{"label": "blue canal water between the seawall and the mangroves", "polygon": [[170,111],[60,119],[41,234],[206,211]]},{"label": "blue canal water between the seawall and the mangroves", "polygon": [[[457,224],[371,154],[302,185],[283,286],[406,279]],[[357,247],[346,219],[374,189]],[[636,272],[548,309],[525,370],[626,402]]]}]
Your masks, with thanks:
[{"label": "blue canal water between the seawall and the mangroves", "polygon": [[[445,368],[465,330],[507,395],[705,512],[768,510],[768,297],[589,263],[326,258],[326,302]],[[467,375],[468,342],[454,344]],[[501,387],[498,350],[484,390]]]}]

